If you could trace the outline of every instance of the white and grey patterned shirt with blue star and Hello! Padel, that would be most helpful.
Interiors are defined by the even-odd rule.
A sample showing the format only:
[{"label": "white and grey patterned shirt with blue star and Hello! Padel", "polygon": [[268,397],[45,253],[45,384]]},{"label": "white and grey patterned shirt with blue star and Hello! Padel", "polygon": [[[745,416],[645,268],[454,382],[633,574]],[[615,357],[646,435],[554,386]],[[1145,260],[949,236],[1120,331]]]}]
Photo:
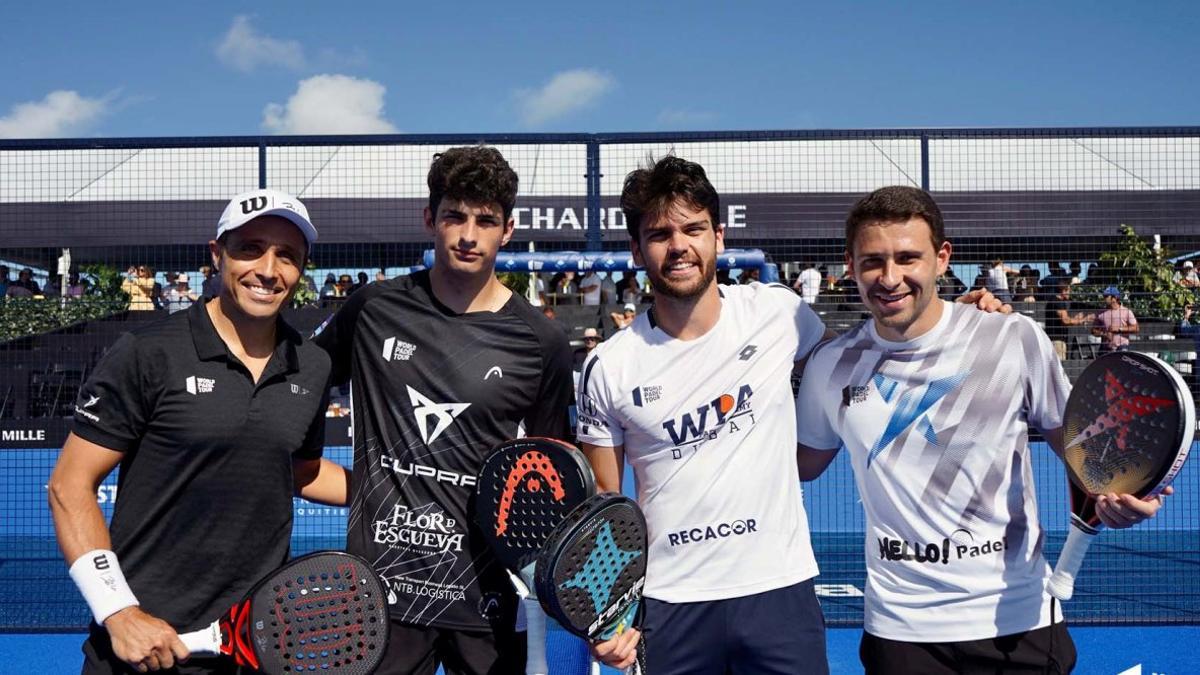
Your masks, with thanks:
[{"label": "white and grey patterned shirt with blue star and Hello! Padel", "polygon": [[1037,324],[970,305],[944,303],[908,342],[866,321],[814,353],[797,437],[850,450],[868,633],[959,641],[1050,623],[1028,428],[1062,426],[1069,390]]}]

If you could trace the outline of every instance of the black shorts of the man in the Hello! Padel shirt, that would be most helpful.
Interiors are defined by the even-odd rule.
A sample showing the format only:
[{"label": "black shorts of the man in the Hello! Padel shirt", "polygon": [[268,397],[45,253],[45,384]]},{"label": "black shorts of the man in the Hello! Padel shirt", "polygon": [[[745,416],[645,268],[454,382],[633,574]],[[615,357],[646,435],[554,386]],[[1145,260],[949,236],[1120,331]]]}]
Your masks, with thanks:
[{"label": "black shorts of the man in the Hello! Padel shirt", "polygon": [[902,643],[863,632],[858,657],[868,675],[1070,673],[1075,643],[1067,623],[960,643]]}]

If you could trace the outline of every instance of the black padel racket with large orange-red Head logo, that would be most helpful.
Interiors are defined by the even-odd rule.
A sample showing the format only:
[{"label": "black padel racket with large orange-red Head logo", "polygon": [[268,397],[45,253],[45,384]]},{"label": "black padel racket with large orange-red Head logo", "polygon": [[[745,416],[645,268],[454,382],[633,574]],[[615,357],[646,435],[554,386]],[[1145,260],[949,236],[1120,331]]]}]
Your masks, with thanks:
[{"label": "black padel racket with large orange-red Head logo", "polygon": [[475,525],[509,569],[526,610],[526,673],[546,675],[546,615],[533,597],[542,544],[596,491],[587,458],[570,443],[518,438],[497,446],[475,482]]}]

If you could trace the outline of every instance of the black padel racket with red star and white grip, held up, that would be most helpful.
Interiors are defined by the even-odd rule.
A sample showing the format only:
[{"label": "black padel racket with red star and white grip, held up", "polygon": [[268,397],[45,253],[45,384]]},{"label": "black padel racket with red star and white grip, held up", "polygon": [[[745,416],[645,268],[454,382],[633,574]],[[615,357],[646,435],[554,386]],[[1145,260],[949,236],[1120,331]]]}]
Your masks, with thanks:
[{"label": "black padel racket with red star and white grip, held up", "polygon": [[1072,528],[1050,578],[1050,595],[1068,601],[1074,593],[1084,555],[1103,527],[1096,497],[1160,494],[1183,467],[1195,425],[1187,384],[1157,358],[1114,352],[1084,369],[1063,419]]}]

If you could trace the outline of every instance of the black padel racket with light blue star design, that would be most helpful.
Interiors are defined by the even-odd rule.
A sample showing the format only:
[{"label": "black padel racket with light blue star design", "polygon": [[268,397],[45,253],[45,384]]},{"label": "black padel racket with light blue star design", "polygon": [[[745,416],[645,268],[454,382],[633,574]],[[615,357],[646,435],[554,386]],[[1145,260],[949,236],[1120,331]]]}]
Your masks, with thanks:
[{"label": "black padel racket with light blue star design", "polygon": [[[559,524],[538,557],[538,599],[546,614],[587,640],[634,623],[646,585],[646,516],[624,495],[596,495]],[[635,673],[644,673],[642,644]]]}]

